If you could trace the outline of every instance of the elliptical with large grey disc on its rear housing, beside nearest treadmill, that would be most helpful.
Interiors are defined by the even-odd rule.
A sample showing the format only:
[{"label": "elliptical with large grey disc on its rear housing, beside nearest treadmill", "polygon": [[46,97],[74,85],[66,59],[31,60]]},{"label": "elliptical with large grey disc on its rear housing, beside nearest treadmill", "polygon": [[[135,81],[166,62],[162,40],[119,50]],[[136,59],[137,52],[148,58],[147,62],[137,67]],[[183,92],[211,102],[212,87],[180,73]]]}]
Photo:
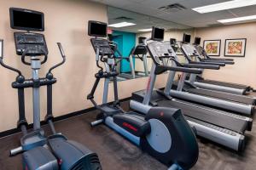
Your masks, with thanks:
[{"label": "elliptical with large grey disc on its rear housing, beside nearest treadmill", "polygon": [[[90,99],[96,109],[101,111],[96,122],[91,122],[91,126],[104,123],[149,155],[171,166],[170,170],[193,167],[198,159],[198,144],[195,133],[184,120],[180,110],[148,107],[147,116],[143,116],[134,111],[125,112],[120,108],[114,54],[108,45],[108,40],[104,39],[107,36],[107,27],[106,23],[89,21],[88,35],[93,36],[90,42],[96,52],[96,65],[100,70],[95,75],[96,82],[87,99]],[[110,77],[113,77],[113,105],[108,104]],[[103,104],[98,105],[94,100],[94,94],[102,78],[105,80]]]}]

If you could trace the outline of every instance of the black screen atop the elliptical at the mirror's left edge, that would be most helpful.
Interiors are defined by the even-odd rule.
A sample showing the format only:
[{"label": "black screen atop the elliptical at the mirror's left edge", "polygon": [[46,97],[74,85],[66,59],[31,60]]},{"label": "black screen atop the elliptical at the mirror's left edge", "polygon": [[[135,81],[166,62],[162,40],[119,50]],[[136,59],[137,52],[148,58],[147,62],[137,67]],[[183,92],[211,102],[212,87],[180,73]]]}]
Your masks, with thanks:
[{"label": "black screen atop the elliptical at the mirror's left edge", "polygon": [[108,25],[104,22],[89,20],[88,35],[94,37],[107,37]]}]

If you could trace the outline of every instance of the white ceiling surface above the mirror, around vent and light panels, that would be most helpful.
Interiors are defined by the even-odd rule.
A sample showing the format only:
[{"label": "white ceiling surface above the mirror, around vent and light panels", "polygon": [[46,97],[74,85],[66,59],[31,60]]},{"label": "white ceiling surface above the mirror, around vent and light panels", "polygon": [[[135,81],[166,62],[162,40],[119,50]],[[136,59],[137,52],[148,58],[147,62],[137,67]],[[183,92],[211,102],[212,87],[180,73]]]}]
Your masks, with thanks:
[{"label": "white ceiling surface above the mirror, around vent and light panels", "polygon": [[[218,11],[218,12],[212,12],[207,14],[199,14],[191,9],[191,8],[212,4],[212,3],[222,3],[228,0],[91,0],[91,1],[104,3],[109,6],[126,9],[139,14],[146,14],[148,16],[156,17],[162,20],[171,21],[172,26],[174,27],[176,26],[177,28],[206,27],[206,26],[220,25],[220,23],[218,23],[217,20],[256,14],[256,5],[243,7],[243,8],[234,8],[234,9]],[[158,9],[160,7],[170,5],[172,3],[179,3],[187,9],[184,9],[182,11],[177,11],[177,12],[171,12],[171,13],[167,13],[165,11]],[[117,12],[117,10],[115,12]],[[119,12],[120,13],[116,13],[116,14],[124,15],[123,11],[119,11]],[[113,14],[110,14],[110,16],[113,18]],[[252,21],[256,21],[256,20],[251,20],[250,22]]]}]

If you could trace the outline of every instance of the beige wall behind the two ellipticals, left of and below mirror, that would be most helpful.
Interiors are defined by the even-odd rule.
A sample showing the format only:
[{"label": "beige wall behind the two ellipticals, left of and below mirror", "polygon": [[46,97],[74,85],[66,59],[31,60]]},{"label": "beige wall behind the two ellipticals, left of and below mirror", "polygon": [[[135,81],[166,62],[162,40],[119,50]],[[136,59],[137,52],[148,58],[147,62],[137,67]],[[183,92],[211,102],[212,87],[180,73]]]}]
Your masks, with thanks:
[{"label": "beige wall behind the two ellipticals, left of and below mirror", "polygon": [[[49,60],[42,65],[41,76],[46,74],[51,65],[61,61],[55,42],[62,42],[67,63],[54,71],[58,81],[53,89],[54,115],[61,116],[91,107],[86,95],[95,81],[97,68],[90,37],[87,36],[87,21],[107,21],[107,7],[86,0],[0,0],[0,39],[4,39],[4,61],[22,70],[26,77],[30,77],[31,69],[23,65],[20,56],[15,54],[14,31],[9,27],[9,7],[29,8],[45,14],[44,34],[48,42]],[[17,92],[11,88],[16,74],[0,67],[0,77],[0,132],[3,132],[16,127],[18,104]],[[143,89],[146,82],[147,78],[119,82],[120,98],[129,97],[131,92]],[[26,89],[25,93],[26,116],[28,122],[32,122],[32,90]],[[41,88],[42,120],[46,112],[45,93],[46,89]],[[102,83],[96,93],[96,100],[101,101],[101,97]],[[109,99],[113,99],[113,94],[110,94]]]}]

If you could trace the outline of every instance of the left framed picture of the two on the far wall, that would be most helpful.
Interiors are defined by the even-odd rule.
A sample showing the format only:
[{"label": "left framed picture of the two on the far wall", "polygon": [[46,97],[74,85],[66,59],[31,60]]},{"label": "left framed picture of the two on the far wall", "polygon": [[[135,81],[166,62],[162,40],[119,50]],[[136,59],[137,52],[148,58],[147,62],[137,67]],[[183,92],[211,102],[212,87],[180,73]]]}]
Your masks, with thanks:
[{"label": "left framed picture of the two on the far wall", "polygon": [[220,55],[221,40],[205,40],[204,49],[209,56]]}]

